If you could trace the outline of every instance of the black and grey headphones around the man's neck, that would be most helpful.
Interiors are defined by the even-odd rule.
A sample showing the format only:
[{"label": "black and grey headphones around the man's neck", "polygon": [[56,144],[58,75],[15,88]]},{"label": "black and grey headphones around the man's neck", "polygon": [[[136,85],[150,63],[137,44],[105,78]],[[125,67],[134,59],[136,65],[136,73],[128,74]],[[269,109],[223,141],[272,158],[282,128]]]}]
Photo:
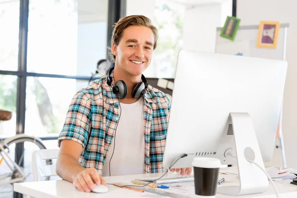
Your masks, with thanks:
[{"label": "black and grey headphones around the man's neck", "polygon": [[[107,85],[111,86],[112,83],[112,77],[111,72],[113,71],[114,67],[111,67],[108,72],[107,76]],[[142,82],[139,82],[133,89],[131,95],[133,98],[137,99],[139,97],[143,97],[147,91],[148,88],[148,82],[146,77],[142,74],[141,75]],[[126,83],[123,80],[119,80],[113,85],[112,87],[112,93],[114,93],[118,99],[124,99],[127,97],[128,94],[128,88]]]}]

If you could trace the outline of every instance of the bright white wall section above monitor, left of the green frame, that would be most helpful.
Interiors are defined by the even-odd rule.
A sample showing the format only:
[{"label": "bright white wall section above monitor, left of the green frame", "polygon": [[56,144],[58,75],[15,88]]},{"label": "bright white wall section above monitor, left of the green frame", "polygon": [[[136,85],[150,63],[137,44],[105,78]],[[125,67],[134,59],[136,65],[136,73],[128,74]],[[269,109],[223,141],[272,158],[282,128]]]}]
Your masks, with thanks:
[{"label": "bright white wall section above monitor, left of the green frame", "polygon": [[216,28],[232,15],[232,0],[187,6],[184,19],[184,49],[215,51]]}]

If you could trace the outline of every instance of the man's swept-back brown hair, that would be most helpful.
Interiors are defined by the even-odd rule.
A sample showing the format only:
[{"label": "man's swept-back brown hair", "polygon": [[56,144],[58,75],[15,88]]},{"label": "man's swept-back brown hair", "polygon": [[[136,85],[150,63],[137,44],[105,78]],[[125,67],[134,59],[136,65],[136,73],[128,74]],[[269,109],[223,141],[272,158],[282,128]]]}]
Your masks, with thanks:
[{"label": "man's swept-back brown hair", "polygon": [[[111,37],[111,44],[115,44],[116,46],[119,44],[124,30],[132,25],[137,25],[137,26],[146,26],[150,28],[150,30],[153,33],[153,38],[154,38],[154,43],[153,43],[153,49],[156,49],[157,47],[157,39],[158,39],[158,30],[156,27],[154,27],[151,24],[151,21],[148,17],[143,16],[143,15],[130,15],[130,16],[125,16],[123,18],[120,18],[118,22],[115,23],[113,31],[112,31],[112,37]],[[110,50],[110,58],[112,61],[115,61],[115,55],[112,53],[111,48]]]}]

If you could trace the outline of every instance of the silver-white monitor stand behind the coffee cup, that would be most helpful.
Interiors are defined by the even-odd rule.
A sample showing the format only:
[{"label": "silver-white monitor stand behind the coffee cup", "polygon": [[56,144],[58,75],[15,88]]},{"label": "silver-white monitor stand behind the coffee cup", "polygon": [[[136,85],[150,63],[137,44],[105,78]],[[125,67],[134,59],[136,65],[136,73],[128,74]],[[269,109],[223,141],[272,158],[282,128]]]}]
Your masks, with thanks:
[{"label": "silver-white monitor stand behind the coffee cup", "polygon": [[266,192],[269,186],[267,176],[246,160],[247,157],[264,168],[251,117],[248,113],[230,113],[229,122],[233,125],[235,149],[228,148],[225,157],[231,157],[227,155],[232,153],[237,158],[239,186],[218,187],[217,193],[239,196]]}]

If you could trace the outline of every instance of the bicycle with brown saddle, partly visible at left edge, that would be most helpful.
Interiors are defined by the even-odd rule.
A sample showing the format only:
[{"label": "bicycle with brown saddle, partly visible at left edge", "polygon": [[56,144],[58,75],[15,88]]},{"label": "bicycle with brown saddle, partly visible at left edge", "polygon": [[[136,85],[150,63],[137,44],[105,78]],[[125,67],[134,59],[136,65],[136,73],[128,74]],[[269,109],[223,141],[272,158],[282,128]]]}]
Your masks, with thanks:
[{"label": "bicycle with brown saddle, partly visible at left edge", "polygon": [[[11,116],[12,113],[10,111],[0,110],[0,121],[10,120]],[[20,160],[18,162],[15,162],[14,160],[14,148],[15,145],[18,143],[33,143],[33,145],[35,145],[39,149],[46,149],[46,146],[42,143],[42,140],[40,138],[28,136],[25,134],[17,134],[13,137],[0,141],[0,166],[5,166],[6,169],[9,169],[8,172],[0,175],[0,186],[4,184],[23,182],[28,177],[28,175],[26,175],[24,167],[20,166],[20,162],[24,158],[25,149],[20,157]],[[50,164],[51,160],[48,160],[46,163]],[[1,167],[0,170],[4,170],[5,167]],[[49,180],[49,178],[46,178],[46,180]]]}]

